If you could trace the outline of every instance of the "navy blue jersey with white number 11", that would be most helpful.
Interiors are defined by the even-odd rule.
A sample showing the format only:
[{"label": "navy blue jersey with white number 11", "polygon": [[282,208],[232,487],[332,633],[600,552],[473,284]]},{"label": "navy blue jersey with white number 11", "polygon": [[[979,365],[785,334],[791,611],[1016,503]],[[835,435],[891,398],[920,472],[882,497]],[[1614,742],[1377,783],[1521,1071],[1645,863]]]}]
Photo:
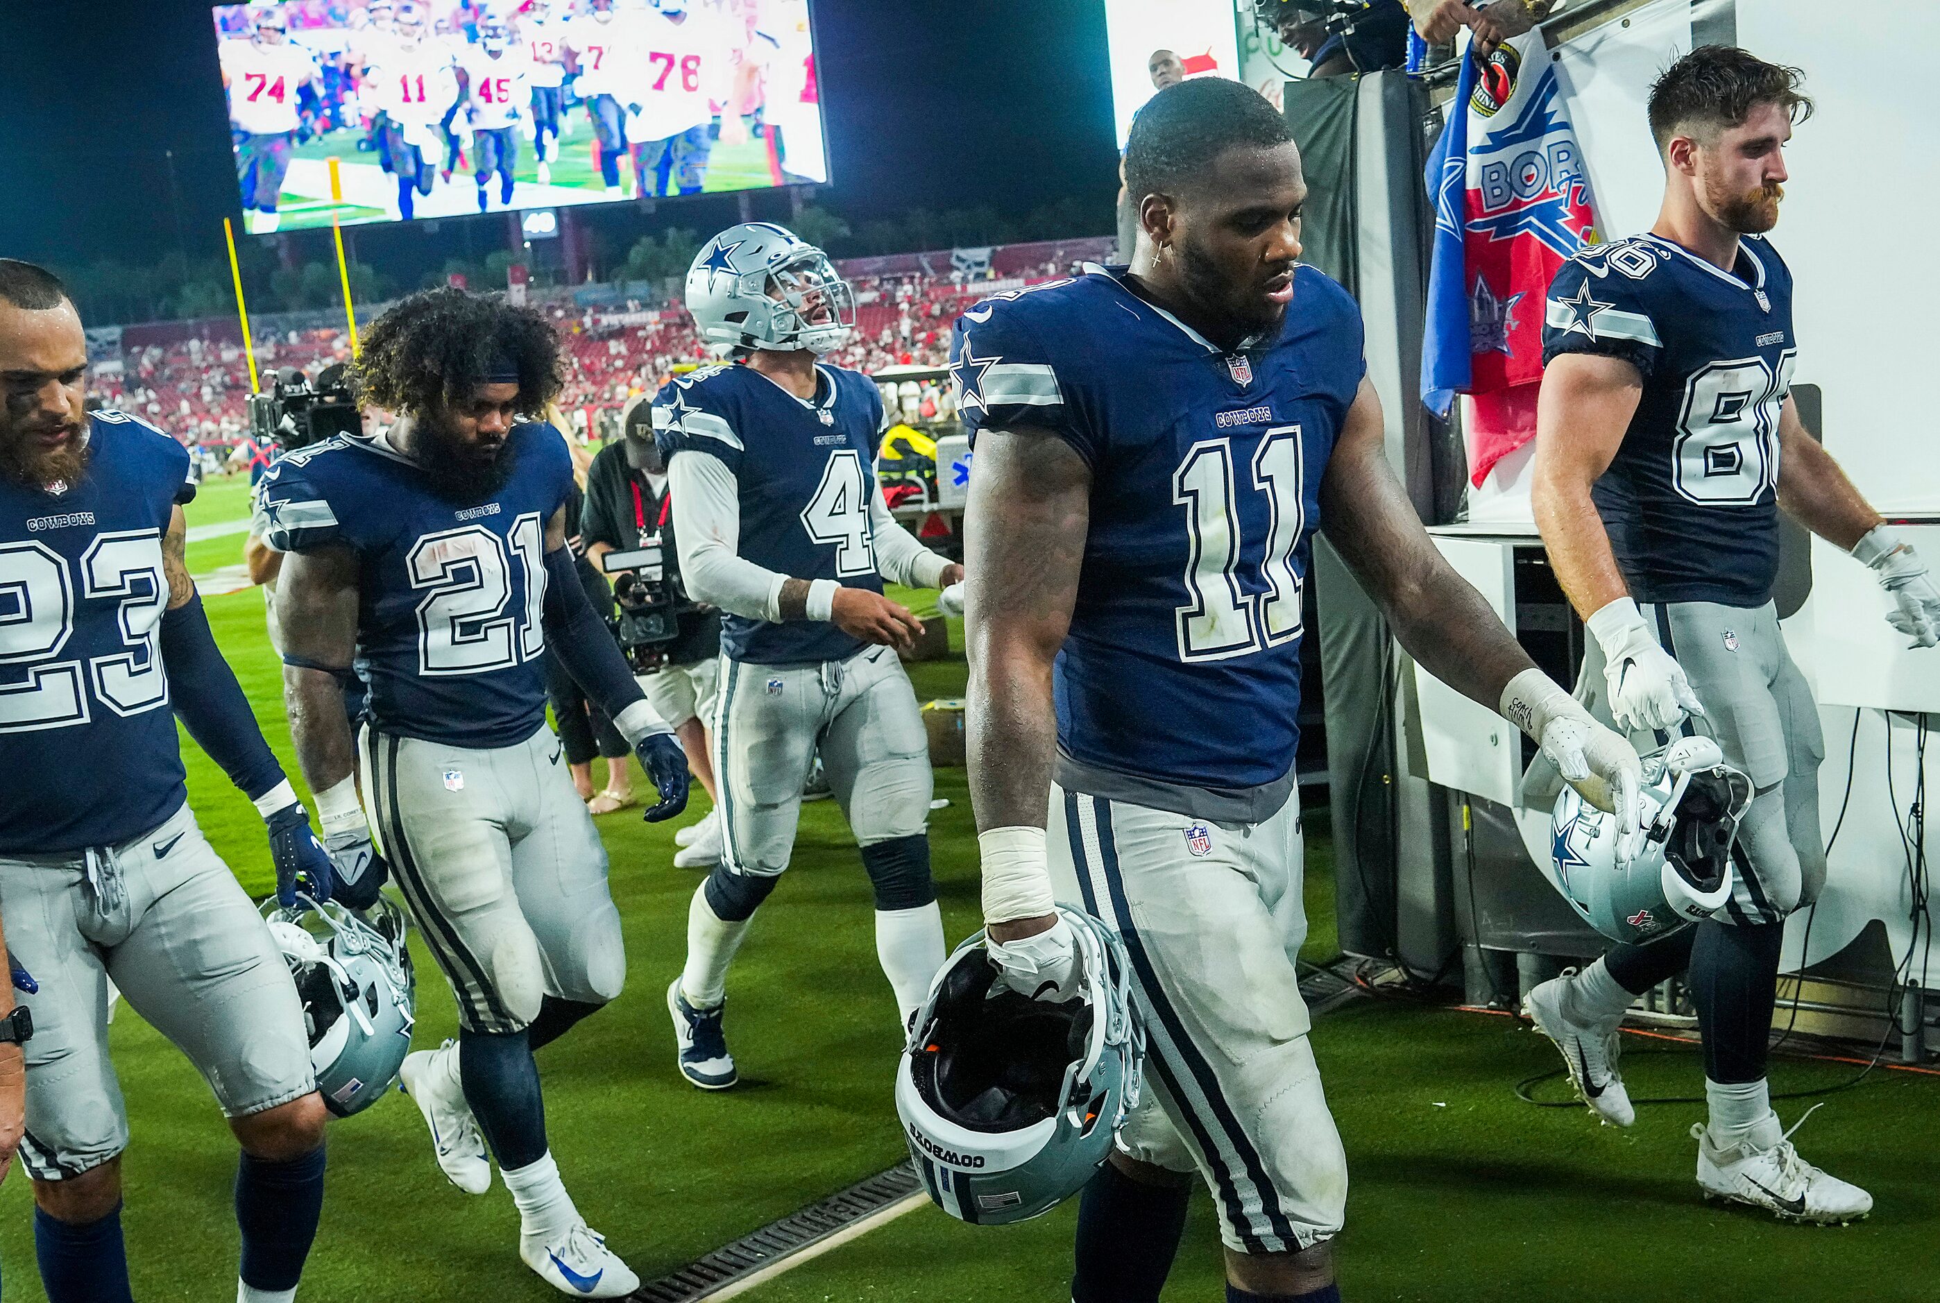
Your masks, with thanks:
[{"label": "navy blue jersey with white number 11", "polygon": [[1057,743],[1150,783],[1278,783],[1321,473],[1366,372],[1360,310],[1300,266],[1278,337],[1224,353],[1121,271],[987,299],[951,341],[972,440],[1046,429],[1092,471]]}]

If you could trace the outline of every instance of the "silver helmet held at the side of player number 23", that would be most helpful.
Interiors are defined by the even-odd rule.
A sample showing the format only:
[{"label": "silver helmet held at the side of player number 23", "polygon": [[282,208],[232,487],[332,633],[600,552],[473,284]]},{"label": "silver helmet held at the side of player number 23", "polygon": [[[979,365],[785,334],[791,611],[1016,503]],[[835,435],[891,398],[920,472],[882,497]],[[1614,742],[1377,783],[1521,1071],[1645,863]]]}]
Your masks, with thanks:
[{"label": "silver helmet held at the side of player number 23", "polygon": [[[303,1001],[316,1090],[326,1109],[349,1117],[390,1090],[411,1049],[417,983],[404,913],[384,896],[369,921],[336,902],[297,900],[297,909],[274,909],[272,898],[270,935]],[[308,917],[324,929],[305,927]]]}]

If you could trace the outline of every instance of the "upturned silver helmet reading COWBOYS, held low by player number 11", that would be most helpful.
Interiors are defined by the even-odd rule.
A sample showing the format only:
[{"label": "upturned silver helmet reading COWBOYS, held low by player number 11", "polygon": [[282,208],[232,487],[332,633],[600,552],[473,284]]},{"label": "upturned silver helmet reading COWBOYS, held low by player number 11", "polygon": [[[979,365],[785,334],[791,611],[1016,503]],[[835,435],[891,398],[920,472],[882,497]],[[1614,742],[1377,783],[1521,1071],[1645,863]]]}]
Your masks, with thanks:
[{"label": "upturned silver helmet reading COWBOYS, held low by player number 11", "polygon": [[1125,942],[1081,909],[1083,995],[991,995],[984,933],[956,948],[910,1024],[896,1113],[929,1198],[978,1225],[1022,1222],[1075,1194],[1139,1103],[1145,1028]]}]

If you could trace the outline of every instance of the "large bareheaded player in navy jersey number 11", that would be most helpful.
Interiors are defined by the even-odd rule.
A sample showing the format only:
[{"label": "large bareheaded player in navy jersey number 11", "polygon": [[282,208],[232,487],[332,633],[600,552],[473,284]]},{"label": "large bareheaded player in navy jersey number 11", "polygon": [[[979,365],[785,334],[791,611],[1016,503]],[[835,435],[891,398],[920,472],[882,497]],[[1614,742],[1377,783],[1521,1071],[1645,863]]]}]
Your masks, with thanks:
[{"label": "large bareheaded player in navy jersey number 11", "polygon": [[[1498,706],[1585,795],[1635,752],[1550,683],[1441,560],[1383,452],[1360,314],[1300,258],[1286,120],[1183,81],[1125,149],[1129,268],[964,312],[970,793],[999,985],[1075,989],[1053,902],[1125,940],[1147,1096],[1079,1208],[1077,1303],[1158,1299],[1187,1181],[1228,1299],[1339,1299],[1346,1160],[1294,956],[1300,597],[1325,527],[1401,644]],[[1633,828],[1626,832],[1626,843]]]}]

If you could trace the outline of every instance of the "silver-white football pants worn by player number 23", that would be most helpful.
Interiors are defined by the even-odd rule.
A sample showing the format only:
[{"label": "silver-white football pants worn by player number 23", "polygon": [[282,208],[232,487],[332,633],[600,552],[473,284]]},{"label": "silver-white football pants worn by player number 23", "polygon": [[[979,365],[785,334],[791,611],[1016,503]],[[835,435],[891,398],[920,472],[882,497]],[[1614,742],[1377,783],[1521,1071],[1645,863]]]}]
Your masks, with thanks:
[{"label": "silver-white football pants worn by player number 23", "polygon": [[35,1181],[78,1177],[128,1148],[111,977],[225,1115],[316,1090],[289,966],[188,807],[91,857],[0,857],[8,950],[37,987],[14,993],[33,1010],[19,1154]]}]

